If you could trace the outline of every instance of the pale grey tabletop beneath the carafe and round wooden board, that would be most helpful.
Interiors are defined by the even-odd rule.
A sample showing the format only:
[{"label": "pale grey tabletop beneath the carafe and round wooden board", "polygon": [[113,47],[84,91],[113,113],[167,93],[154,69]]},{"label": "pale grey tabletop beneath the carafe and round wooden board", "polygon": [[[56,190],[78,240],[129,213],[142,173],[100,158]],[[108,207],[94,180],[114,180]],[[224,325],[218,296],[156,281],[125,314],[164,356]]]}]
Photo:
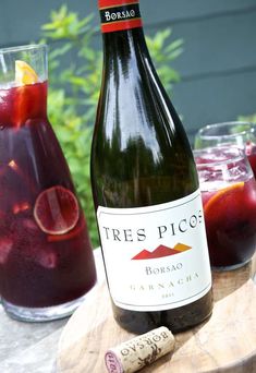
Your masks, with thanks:
[{"label": "pale grey tabletop beneath the carafe and round wooden board", "polygon": [[[105,279],[100,250],[94,250],[98,284]],[[256,277],[255,277],[256,281]],[[89,299],[96,287],[89,291]],[[86,300],[85,300],[86,301]],[[47,323],[23,323],[10,318],[0,305],[0,372],[56,373],[58,342],[69,317]]]}]

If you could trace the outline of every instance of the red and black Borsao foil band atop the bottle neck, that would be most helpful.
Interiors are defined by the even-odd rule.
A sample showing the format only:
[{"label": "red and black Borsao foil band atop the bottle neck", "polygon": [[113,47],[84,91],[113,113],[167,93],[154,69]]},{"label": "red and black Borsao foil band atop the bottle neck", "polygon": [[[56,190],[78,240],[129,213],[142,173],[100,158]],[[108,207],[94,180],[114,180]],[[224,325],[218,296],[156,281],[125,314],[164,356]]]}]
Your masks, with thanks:
[{"label": "red and black Borsao foil band atop the bottle neck", "polygon": [[138,0],[99,0],[101,32],[142,27]]}]

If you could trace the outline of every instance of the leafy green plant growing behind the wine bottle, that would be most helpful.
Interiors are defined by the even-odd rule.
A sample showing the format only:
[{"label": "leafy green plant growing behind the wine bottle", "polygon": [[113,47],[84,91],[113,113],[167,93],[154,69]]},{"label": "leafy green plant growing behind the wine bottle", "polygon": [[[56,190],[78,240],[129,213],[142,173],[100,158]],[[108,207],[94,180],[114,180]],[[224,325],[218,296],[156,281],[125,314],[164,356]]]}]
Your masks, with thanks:
[{"label": "leafy green plant growing behind the wine bottle", "polygon": [[[97,246],[89,153],[101,80],[102,53],[94,46],[99,31],[92,14],[80,19],[66,5],[52,11],[50,22],[41,29],[41,41],[49,45],[49,118],[68,159],[93,246]],[[182,52],[182,40],[170,43],[170,36],[169,28],[147,36],[153,60],[169,93],[180,79],[170,63]]]}]

